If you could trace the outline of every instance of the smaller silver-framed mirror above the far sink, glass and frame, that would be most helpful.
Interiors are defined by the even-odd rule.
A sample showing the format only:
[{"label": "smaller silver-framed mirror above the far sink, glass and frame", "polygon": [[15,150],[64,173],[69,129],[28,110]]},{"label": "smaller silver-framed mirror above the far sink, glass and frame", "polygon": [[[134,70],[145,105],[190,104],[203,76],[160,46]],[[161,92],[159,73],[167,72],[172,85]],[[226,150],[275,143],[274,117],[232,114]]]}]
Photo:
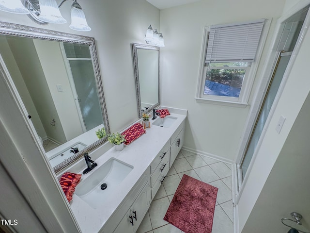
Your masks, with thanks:
[{"label": "smaller silver-framed mirror above the far sink, glass and frame", "polygon": [[138,116],[159,106],[159,47],[133,43]]}]

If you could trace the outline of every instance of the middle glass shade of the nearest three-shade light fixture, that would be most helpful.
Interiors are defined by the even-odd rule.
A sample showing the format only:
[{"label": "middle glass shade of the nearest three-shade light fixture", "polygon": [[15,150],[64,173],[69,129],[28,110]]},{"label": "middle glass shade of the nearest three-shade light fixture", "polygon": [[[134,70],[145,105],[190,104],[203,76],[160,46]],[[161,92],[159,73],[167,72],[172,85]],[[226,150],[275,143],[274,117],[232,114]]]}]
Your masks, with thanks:
[{"label": "middle glass shade of the nearest three-shade light fixture", "polygon": [[59,11],[56,0],[39,0],[40,15],[38,19],[47,23],[66,23]]}]

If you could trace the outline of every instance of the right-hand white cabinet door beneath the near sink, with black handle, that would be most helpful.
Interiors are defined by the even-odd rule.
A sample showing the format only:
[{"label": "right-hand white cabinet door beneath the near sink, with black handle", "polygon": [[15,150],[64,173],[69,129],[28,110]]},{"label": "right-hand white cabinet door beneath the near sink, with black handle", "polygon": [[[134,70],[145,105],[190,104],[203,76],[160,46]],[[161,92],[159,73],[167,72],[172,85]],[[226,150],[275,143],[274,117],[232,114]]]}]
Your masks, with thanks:
[{"label": "right-hand white cabinet door beneath the near sink, with black handle", "polygon": [[136,199],[135,203],[130,208],[131,216],[133,217],[134,222],[134,232],[136,232],[140,226],[140,223],[145,216],[147,210],[149,209],[149,196],[150,196],[150,184],[147,183],[143,190],[141,191],[140,195]]}]

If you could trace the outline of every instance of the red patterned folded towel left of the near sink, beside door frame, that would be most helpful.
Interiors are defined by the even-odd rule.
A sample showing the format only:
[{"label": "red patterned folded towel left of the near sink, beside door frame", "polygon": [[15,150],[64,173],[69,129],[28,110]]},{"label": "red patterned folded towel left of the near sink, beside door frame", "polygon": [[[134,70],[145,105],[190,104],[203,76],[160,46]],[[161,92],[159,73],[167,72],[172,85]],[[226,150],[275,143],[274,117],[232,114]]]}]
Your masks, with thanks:
[{"label": "red patterned folded towel left of the near sink, beside door frame", "polygon": [[65,172],[59,180],[59,183],[62,186],[62,191],[69,202],[72,200],[72,195],[81,180],[81,176],[81,174]]}]

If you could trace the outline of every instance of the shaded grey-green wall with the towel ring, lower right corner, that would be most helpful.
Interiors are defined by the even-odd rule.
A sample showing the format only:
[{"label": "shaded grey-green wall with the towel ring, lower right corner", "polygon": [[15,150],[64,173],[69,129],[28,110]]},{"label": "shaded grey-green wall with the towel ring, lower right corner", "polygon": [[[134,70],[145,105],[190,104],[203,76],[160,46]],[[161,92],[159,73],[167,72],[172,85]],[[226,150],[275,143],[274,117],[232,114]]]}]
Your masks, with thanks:
[{"label": "shaded grey-green wall with the towel ring, lower right corner", "polygon": [[[310,95],[304,102],[286,138],[279,156],[263,186],[263,189],[248,217],[243,233],[283,232],[289,228],[280,219],[291,217],[291,212],[303,216],[302,227],[293,222],[295,228],[310,229]],[[262,224],[263,223],[263,224]]]}]

